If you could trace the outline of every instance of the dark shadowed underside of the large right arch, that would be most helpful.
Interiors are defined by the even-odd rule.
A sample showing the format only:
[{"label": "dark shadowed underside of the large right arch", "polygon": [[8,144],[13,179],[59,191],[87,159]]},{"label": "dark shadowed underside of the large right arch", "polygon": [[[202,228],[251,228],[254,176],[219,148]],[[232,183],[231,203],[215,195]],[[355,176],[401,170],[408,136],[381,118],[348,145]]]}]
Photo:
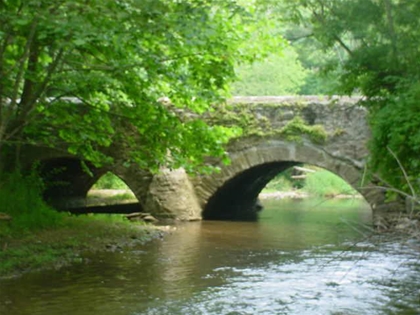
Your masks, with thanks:
[{"label": "dark shadowed underside of the large right arch", "polygon": [[289,161],[265,163],[236,175],[209,199],[203,211],[203,219],[256,220],[262,209],[258,200],[261,190],[278,173],[298,164]]}]

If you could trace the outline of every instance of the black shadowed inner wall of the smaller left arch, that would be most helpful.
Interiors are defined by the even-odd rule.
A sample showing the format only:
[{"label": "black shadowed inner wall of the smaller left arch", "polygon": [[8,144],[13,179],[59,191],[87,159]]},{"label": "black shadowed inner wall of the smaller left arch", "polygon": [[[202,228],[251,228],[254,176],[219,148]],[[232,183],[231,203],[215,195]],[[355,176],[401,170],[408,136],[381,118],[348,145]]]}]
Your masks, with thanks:
[{"label": "black shadowed inner wall of the smaller left arch", "polygon": [[106,172],[71,157],[43,160],[39,171],[45,183],[44,198],[58,208],[83,206],[90,187]]}]

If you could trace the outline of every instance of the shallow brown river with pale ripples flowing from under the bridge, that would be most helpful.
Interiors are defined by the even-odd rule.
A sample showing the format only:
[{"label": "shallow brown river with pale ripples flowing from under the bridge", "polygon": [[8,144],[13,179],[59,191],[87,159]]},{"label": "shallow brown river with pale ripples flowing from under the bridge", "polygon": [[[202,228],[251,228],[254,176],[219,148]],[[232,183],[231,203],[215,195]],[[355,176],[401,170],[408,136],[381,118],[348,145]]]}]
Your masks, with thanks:
[{"label": "shallow brown river with pale ripples flowing from under the bridge", "polygon": [[130,251],[0,281],[1,315],[420,314],[419,244],[360,200],[266,200],[258,222],[179,224]]}]

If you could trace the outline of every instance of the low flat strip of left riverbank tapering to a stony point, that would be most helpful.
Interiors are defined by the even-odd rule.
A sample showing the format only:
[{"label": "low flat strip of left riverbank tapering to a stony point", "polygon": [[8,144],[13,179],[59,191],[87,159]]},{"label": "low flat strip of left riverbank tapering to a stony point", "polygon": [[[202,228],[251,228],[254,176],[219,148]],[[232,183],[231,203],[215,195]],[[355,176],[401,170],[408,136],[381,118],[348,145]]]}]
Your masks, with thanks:
[{"label": "low flat strip of left riverbank tapering to a stony point", "polygon": [[51,229],[0,237],[0,279],[85,263],[85,252],[125,251],[169,229],[128,222],[121,215],[70,216]]}]

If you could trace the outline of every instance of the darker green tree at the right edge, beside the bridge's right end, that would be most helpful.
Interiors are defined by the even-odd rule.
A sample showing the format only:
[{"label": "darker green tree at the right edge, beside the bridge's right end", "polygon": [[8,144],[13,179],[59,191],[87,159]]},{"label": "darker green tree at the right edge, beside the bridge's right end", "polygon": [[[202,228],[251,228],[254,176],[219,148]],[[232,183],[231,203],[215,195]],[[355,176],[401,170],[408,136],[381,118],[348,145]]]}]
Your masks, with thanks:
[{"label": "darker green tree at the right edge, beside the bridge's right end", "polygon": [[[365,96],[372,127],[371,167],[408,189],[397,159],[414,181],[420,174],[420,2],[300,0],[283,2],[289,17],[311,30],[323,49],[345,52],[338,81],[343,94]],[[390,154],[395,153],[397,159]]]}]

